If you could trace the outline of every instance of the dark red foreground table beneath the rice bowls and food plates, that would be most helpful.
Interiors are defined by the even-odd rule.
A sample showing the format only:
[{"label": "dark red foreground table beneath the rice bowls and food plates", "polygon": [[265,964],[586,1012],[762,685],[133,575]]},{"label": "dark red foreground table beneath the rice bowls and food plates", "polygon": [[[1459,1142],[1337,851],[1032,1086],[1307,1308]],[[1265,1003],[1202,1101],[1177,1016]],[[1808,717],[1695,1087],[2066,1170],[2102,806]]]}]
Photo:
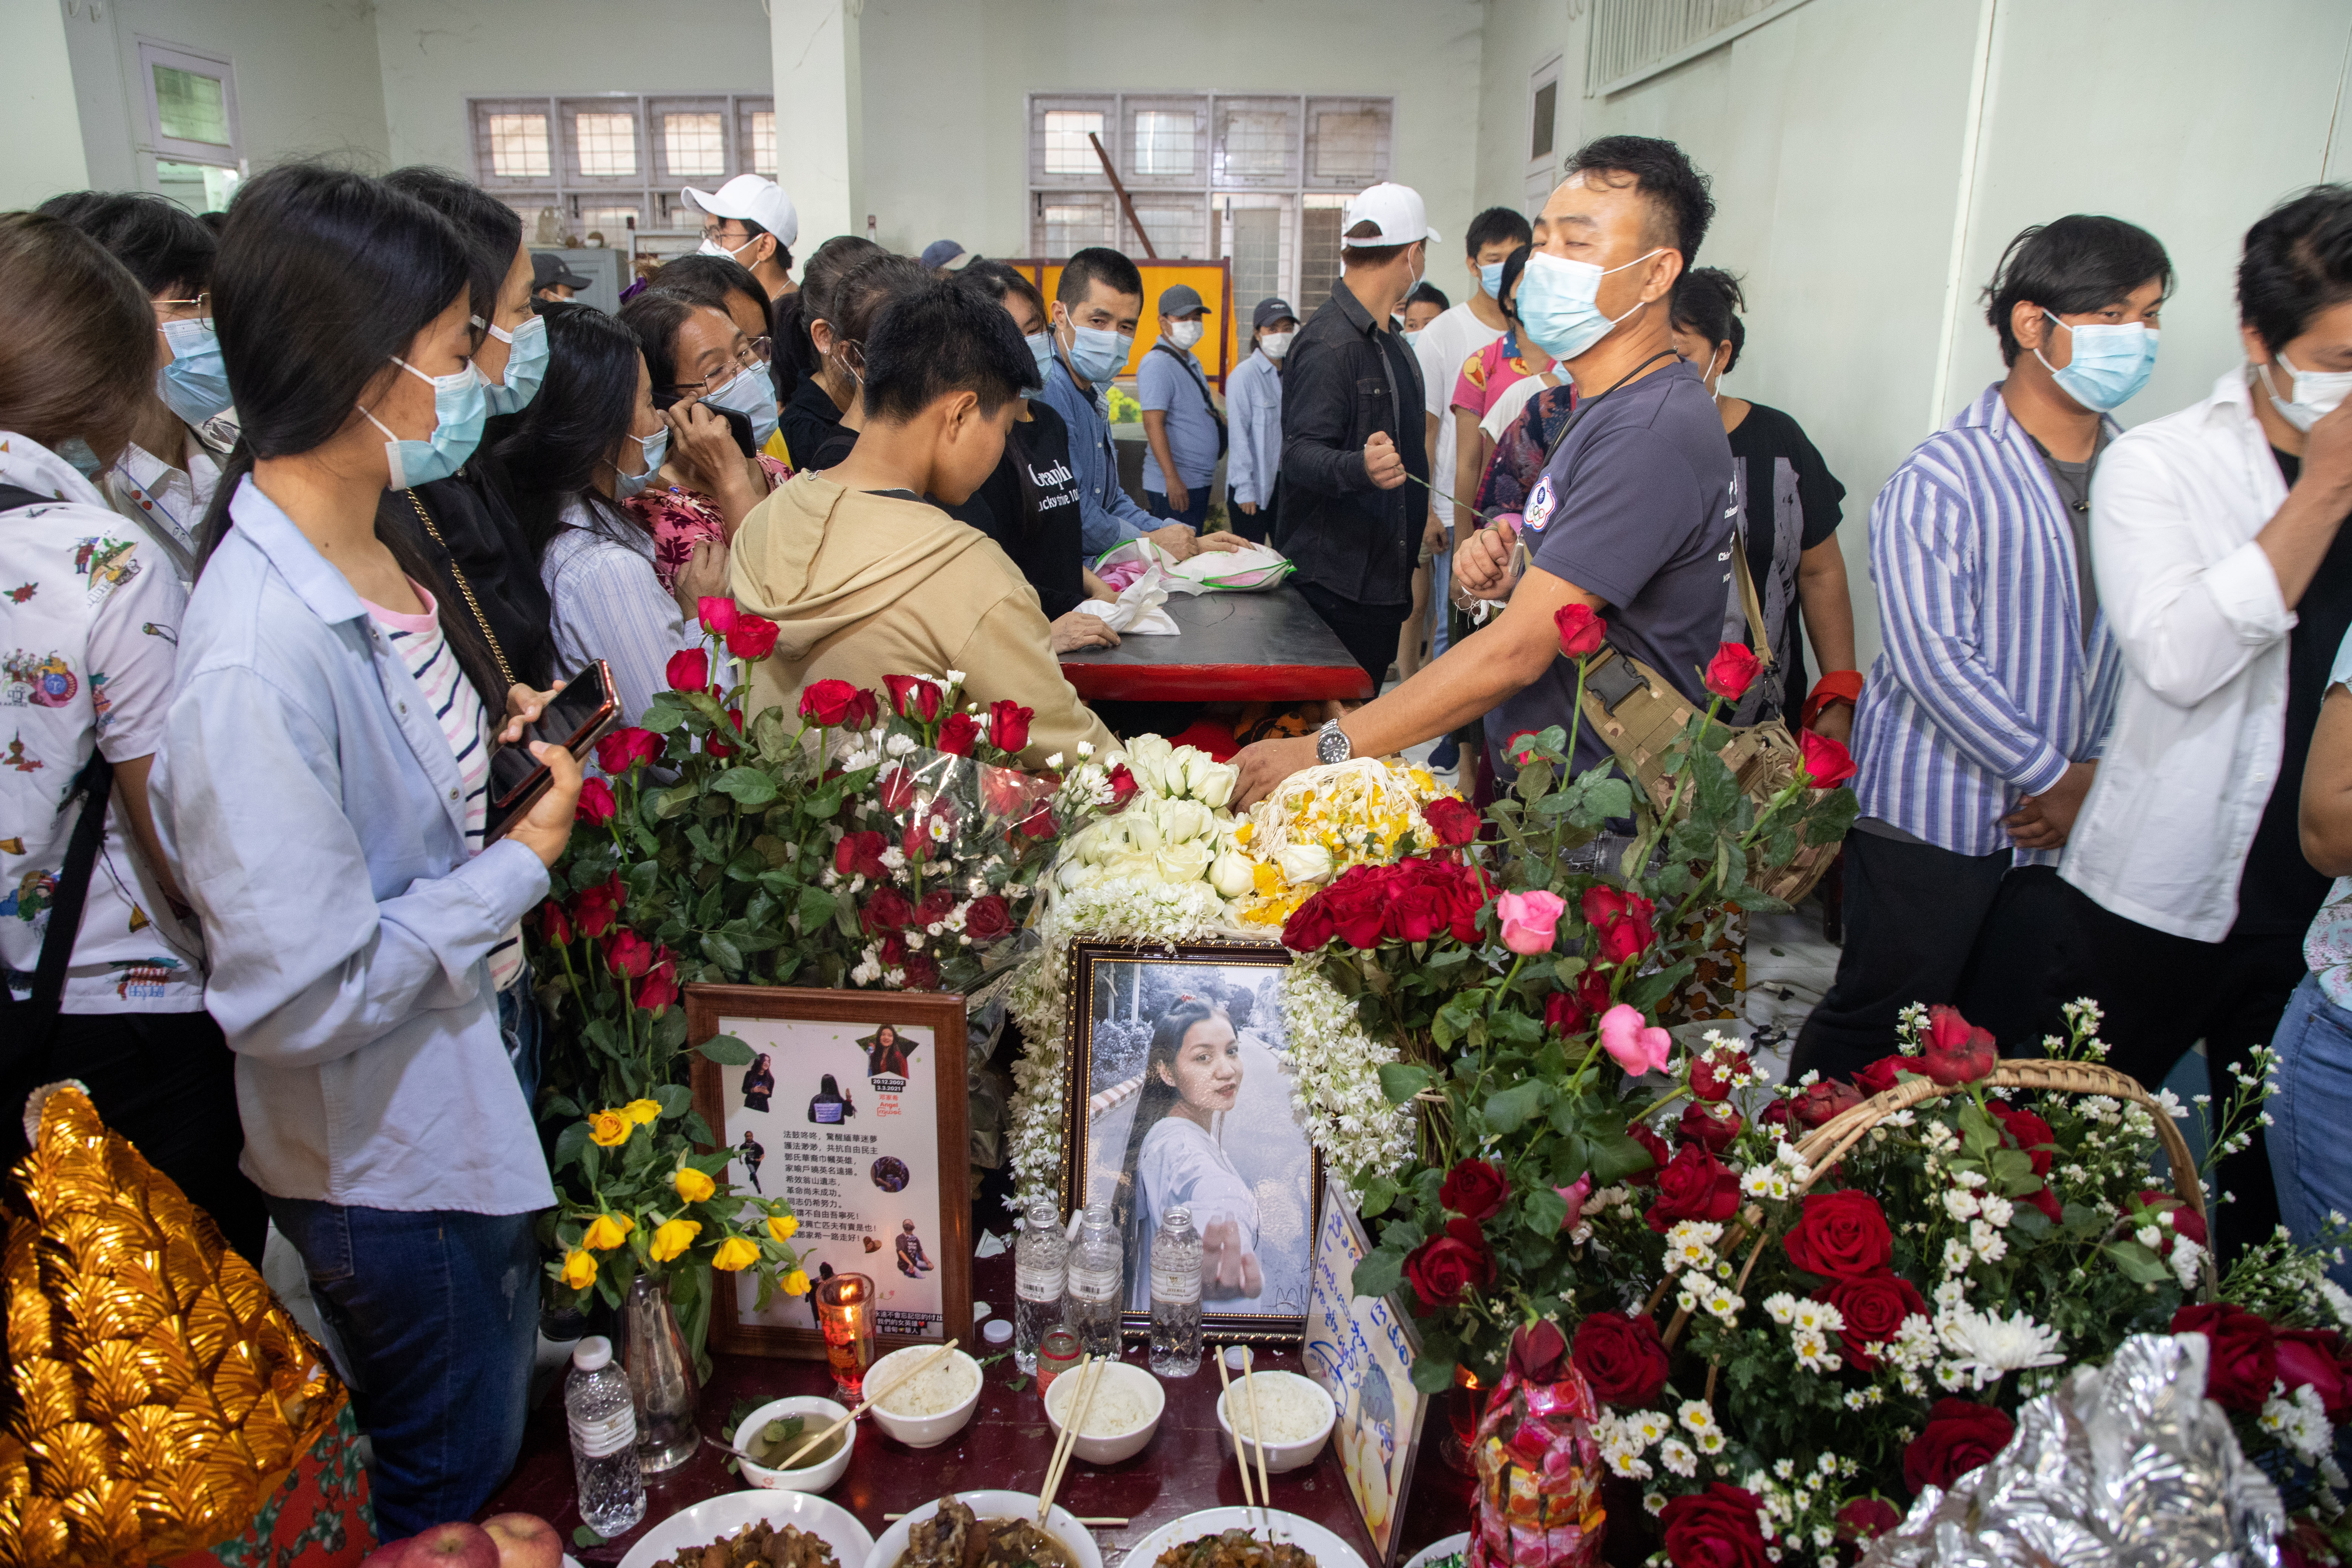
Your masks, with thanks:
[{"label": "dark red foreground table beneath the rice bowls and food plates", "polygon": [[[1011,1255],[983,1258],[974,1262],[974,1295],[1000,1307],[1011,1305]],[[1141,1345],[1127,1354],[1143,1363]],[[1291,1352],[1261,1352],[1261,1366],[1298,1371]],[[1011,1359],[997,1361],[985,1373],[981,1408],[953,1441],[938,1448],[906,1448],[866,1420],[858,1422],[856,1450],[849,1472],[826,1493],[840,1502],[875,1537],[887,1528],[882,1514],[903,1514],[953,1490],[1007,1488],[1035,1493],[1044,1479],[1047,1460],[1054,1450],[1054,1429],[1044,1422],[1044,1403],[1037,1399],[1035,1380],[1021,1392],[1011,1382]],[[1120,1530],[1096,1530],[1096,1544],[1110,1568],[1122,1568],[1127,1547],[1143,1540],[1157,1526],[1195,1509],[1240,1505],[1242,1486],[1232,1469],[1232,1443],[1216,1425],[1216,1366],[1202,1356],[1200,1373],[1169,1380],[1167,1413],[1160,1432],[1136,1458],[1124,1465],[1096,1469],[1073,1460],[1061,1483],[1056,1502],[1073,1514],[1124,1516]],[[833,1378],[821,1361],[771,1361],[762,1356],[717,1356],[710,1385],[703,1389],[701,1429],[717,1436],[727,1425],[727,1413],[739,1399],[764,1403],[783,1394],[833,1394]],[[1432,1406],[1423,1427],[1421,1458],[1414,1465],[1414,1490],[1406,1500],[1404,1528],[1399,1533],[1397,1561],[1421,1547],[1470,1528],[1470,1481],[1439,1460],[1444,1436],[1444,1406]],[[694,1460],[647,1486],[644,1519],[659,1523],[677,1509],[691,1507],[717,1493],[743,1490],[743,1481],[720,1469],[722,1458],[708,1443]],[[1315,1465],[1272,1476],[1275,1507],[1312,1519],[1348,1540],[1371,1568],[1383,1568],[1371,1556],[1371,1537],[1348,1497],[1348,1481],[1341,1476],[1338,1455],[1331,1446]],[[532,1410],[522,1436],[522,1458],[515,1474],[482,1509],[482,1516],[520,1509],[548,1519],[564,1540],[581,1523],[572,1486],[572,1448],[564,1434],[564,1410],[560,1387]],[[616,1563],[640,1530],[604,1547],[572,1547],[583,1563]],[[863,1568],[842,1563],[842,1568]],[[1143,1568],[1143,1566],[1138,1566]]]}]

